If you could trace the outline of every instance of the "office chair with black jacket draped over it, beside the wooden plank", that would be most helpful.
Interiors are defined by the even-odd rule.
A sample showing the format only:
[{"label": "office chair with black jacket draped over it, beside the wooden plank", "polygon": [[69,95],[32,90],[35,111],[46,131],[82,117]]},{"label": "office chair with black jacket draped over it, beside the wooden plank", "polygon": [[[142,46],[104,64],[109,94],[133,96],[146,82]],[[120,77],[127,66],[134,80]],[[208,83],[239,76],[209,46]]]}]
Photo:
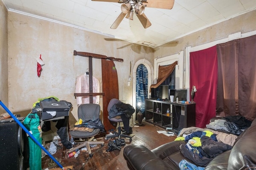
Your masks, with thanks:
[{"label": "office chair with black jacket draped over it, beside the wooden plank", "polygon": [[[115,98],[111,99],[110,102],[108,103],[108,112],[110,111],[111,107],[114,106],[114,104],[117,104],[119,102],[121,102],[121,101],[118,99],[115,99]],[[110,121],[118,123],[118,133],[116,131],[114,131],[114,135],[107,136],[106,137],[107,139],[115,138],[115,137],[118,137],[118,139],[120,139],[120,137],[127,137],[127,138],[130,138],[130,142],[132,141],[131,136],[124,135],[123,133],[125,133],[125,132],[122,133],[122,131],[121,131],[121,126],[120,126],[120,122],[122,122],[121,118],[120,119],[116,119],[115,117],[109,118],[109,116],[108,116],[108,119]]]}]

